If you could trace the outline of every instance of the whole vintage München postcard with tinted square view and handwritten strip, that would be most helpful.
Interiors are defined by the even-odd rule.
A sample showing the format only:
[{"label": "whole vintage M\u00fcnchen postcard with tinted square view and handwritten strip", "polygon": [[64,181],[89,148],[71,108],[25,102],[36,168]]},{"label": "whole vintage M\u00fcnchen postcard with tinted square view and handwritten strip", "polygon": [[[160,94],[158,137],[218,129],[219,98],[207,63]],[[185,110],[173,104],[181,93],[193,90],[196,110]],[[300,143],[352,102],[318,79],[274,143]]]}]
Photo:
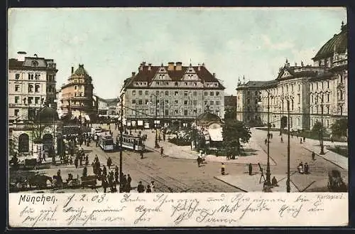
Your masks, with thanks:
[{"label": "whole vintage M\u00fcnchen postcard with tinted square view and handwritten strip", "polygon": [[8,35],[10,227],[347,225],[346,8],[9,9]]}]

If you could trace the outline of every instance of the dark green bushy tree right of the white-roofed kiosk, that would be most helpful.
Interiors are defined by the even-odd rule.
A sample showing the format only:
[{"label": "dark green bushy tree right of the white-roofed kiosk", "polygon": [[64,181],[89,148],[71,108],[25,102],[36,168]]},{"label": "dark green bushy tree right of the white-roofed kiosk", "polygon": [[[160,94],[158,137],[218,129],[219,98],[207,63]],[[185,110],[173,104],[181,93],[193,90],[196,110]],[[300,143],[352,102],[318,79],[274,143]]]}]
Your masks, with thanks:
[{"label": "dark green bushy tree right of the white-roofed kiosk", "polygon": [[228,119],[222,128],[223,147],[232,156],[241,154],[241,142],[249,142],[251,132],[244,122]]}]

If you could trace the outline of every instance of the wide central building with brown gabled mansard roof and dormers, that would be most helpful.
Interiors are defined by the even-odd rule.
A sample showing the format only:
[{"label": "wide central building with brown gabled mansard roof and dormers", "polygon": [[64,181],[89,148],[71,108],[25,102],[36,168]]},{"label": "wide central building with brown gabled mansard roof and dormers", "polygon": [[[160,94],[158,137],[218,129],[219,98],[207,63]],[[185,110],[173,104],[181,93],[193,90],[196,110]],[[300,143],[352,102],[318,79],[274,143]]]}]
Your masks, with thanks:
[{"label": "wide central building with brown gabled mansard roof and dormers", "polygon": [[204,64],[143,62],[124,85],[120,97],[127,126],[189,124],[206,108],[224,118],[224,86]]}]

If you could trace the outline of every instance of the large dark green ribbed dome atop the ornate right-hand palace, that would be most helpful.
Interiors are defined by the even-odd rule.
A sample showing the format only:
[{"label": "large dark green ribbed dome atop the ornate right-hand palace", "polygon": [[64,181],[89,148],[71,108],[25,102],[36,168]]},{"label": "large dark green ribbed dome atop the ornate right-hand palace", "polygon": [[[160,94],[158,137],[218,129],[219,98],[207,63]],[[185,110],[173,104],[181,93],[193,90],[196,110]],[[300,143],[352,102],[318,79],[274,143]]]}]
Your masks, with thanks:
[{"label": "large dark green ribbed dome atop the ornate right-hand palace", "polygon": [[348,46],[348,27],[342,26],[342,31],[339,34],[334,34],[327,43],[320,48],[317,55],[313,60],[320,60],[322,58],[329,58],[334,55],[334,51],[337,53],[344,53]]}]

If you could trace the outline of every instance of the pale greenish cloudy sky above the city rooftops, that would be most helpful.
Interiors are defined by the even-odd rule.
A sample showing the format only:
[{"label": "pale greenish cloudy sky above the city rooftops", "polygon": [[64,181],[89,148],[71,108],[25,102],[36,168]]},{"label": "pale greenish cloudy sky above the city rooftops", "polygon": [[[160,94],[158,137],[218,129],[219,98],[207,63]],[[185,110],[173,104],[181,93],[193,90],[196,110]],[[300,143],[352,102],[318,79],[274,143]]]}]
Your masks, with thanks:
[{"label": "pale greenish cloudy sky above the city rooftops", "polygon": [[53,58],[57,90],[83,63],[94,92],[114,98],[142,61],[204,63],[235,95],[238,77],[273,80],[285,59],[312,64],[346,23],[345,8],[15,9],[9,58]]}]

